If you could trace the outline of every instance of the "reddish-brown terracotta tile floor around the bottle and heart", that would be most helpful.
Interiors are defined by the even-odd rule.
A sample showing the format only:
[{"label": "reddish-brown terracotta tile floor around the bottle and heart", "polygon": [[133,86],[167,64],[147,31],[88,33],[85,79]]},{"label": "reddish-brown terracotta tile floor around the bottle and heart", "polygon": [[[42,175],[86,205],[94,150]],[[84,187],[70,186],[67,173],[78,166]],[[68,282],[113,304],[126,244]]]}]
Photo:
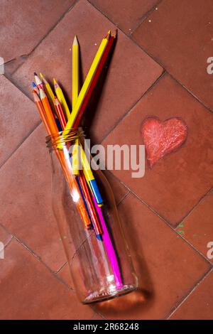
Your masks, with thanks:
[{"label": "reddish-brown terracotta tile floor around the bottle and heart", "polygon": [[[212,1],[36,0],[32,7],[23,0],[16,15],[15,1],[3,2],[0,318],[213,318]],[[85,77],[100,39],[115,27],[100,98],[96,92],[84,120],[93,141],[142,144],[141,122],[153,115],[182,117],[189,134],[141,179],[107,172],[139,289],[91,308],[77,301],[51,209],[50,159],[31,79],[34,70],[56,77],[70,97],[73,37]]]}]

